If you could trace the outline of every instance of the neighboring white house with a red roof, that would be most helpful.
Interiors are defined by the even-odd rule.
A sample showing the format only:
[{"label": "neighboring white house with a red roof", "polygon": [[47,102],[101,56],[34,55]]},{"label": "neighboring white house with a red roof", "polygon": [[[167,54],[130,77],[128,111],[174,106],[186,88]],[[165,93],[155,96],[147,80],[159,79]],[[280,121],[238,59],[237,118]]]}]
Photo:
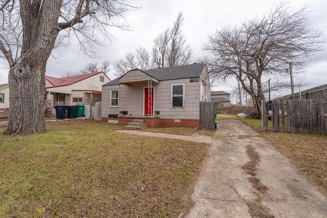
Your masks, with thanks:
[{"label": "neighboring white house with a red roof", "polygon": [[103,72],[55,78],[45,76],[45,99],[52,105],[95,105],[101,101],[102,85],[110,79]]}]

